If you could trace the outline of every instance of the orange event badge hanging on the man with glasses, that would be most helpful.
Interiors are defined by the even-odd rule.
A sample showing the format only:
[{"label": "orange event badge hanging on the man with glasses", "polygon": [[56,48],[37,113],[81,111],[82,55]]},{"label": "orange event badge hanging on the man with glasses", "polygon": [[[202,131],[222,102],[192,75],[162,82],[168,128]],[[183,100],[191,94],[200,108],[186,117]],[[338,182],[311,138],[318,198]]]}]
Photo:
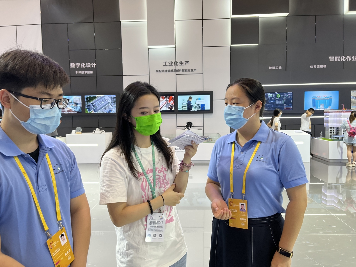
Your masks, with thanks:
[{"label": "orange event badge hanging on the man with glasses", "polygon": [[70,247],[66,229],[60,229],[52,238],[47,240],[54,266],[67,267],[74,261],[72,247]]}]

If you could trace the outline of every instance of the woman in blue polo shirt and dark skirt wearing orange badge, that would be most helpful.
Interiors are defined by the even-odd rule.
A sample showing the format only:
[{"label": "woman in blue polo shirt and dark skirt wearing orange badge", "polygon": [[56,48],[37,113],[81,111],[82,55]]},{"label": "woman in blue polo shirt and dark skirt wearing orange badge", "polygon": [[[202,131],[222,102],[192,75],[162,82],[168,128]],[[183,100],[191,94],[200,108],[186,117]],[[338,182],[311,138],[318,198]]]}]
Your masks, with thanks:
[{"label": "woman in blue polo shirt and dark skirt wearing orange badge", "polygon": [[229,84],[225,106],[226,124],[236,131],[216,141],[209,164],[205,192],[214,214],[209,267],[289,267],[307,207],[302,157],[290,136],[260,121],[265,91],[257,80]]}]

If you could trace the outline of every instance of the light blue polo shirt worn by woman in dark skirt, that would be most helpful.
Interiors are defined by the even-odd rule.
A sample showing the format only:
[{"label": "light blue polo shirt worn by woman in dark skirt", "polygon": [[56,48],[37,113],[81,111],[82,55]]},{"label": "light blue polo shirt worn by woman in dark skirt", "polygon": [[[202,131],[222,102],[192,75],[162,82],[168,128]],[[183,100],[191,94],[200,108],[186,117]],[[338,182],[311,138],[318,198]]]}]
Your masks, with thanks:
[{"label": "light blue polo shirt worn by woman in dark skirt", "polygon": [[226,201],[230,195],[230,161],[232,144],[234,154],[234,196],[242,198],[244,171],[256,144],[261,141],[246,175],[248,218],[261,218],[276,213],[285,213],[282,207],[283,188],[292,188],[308,183],[302,156],[293,139],[267,127],[262,121],[256,135],[241,147],[236,141],[236,131],[220,137],[213,148],[208,177],[219,182],[221,194]]}]

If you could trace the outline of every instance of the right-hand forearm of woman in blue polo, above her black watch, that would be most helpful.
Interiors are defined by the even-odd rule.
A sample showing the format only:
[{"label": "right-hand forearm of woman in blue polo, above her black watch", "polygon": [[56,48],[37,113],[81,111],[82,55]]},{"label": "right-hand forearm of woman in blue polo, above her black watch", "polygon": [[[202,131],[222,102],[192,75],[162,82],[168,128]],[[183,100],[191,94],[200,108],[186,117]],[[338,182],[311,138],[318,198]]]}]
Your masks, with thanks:
[{"label": "right-hand forearm of woman in blue polo, above her black watch", "polygon": [[307,200],[291,200],[287,206],[279,247],[287,251],[293,251],[300,228],[303,224]]}]

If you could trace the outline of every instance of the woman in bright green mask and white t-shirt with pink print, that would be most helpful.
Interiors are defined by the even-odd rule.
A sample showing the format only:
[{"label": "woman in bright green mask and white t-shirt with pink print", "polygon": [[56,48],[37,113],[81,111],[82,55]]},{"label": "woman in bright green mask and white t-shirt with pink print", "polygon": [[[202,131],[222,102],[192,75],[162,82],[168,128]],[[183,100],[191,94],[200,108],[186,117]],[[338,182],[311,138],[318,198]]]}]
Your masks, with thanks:
[{"label": "woman in bright green mask and white t-shirt with pink print", "polygon": [[[159,131],[159,99],[148,83],[126,87],[101,159],[99,204],[108,206],[115,225],[118,267],[186,266],[187,246],[175,206],[184,197],[197,145],[185,147],[179,163]],[[156,220],[163,221],[163,230],[152,231]]]}]

